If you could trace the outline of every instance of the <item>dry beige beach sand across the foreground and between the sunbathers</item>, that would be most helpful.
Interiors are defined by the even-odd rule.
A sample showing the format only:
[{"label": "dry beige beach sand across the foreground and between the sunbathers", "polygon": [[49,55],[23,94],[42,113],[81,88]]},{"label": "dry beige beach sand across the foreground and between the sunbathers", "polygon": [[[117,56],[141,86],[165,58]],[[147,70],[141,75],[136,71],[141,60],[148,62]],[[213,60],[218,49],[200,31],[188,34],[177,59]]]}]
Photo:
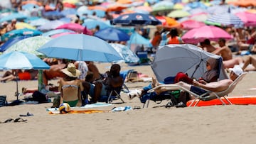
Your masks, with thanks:
[{"label": "dry beige beach sand across the foreground and between the sunbathers", "polygon": [[[110,64],[98,63],[100,72]],[[150,66],[128,67],[149,77],[154,76]],[[237,85],[230,96],[255,95],[256,73],[250,72]],[[56,84],[56,80],[50,81]],[[129,89],[139,89],[149,82],[127,83]],[[1,95],[8,101],[16,99],[15,82],[0,83]],[[37,81],[20,81],[22,87],[37,87]],[[21,96],[22,98],[22,96]],[[126,103],[95,109],[111,110],[114,106],[142,106],[139,99],[131,101],[122,94]],[[117,100],[118,102],[119,100]],[[1,143],[255,143],[256,106],[203,106],[166,109],[162,101],[149,108],[133,111],[57,114],[50,115],[47,104],[25,104],[0,108],[0,121],[18,118],[19,114],[33,113],[23,117],[26,123],[1,123]]]}]

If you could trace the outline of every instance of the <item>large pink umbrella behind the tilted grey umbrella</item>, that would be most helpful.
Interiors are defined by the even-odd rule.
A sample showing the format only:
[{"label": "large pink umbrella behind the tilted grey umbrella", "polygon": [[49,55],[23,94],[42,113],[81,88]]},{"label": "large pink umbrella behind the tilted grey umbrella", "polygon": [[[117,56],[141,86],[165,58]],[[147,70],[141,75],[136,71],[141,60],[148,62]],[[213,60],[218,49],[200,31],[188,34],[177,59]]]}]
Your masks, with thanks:
[{"label": "large pink umbrella behind the tilted grey umbrella", "polygon": [[218,41],[219,38],[225,38],[227,40],[233,37],[221,28],[215,26],[203,26],[201,28],[193,28],[186,32],[182,37],[184,43],[200,43],[204,39]]}]

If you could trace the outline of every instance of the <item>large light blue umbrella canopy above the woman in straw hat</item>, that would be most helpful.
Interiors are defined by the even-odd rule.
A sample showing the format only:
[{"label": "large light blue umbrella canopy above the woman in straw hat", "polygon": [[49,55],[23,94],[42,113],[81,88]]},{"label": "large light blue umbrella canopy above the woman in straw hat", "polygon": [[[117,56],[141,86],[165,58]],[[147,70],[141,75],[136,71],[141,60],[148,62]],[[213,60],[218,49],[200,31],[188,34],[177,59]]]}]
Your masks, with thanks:
[{"label": "large light blue umbrella canopy above the woman in straw hat", "polygon": [[38,52],[48,57],[80,61],[112,62],[123,59],[105,40],[83,34],[54,38],[39,48]]}]

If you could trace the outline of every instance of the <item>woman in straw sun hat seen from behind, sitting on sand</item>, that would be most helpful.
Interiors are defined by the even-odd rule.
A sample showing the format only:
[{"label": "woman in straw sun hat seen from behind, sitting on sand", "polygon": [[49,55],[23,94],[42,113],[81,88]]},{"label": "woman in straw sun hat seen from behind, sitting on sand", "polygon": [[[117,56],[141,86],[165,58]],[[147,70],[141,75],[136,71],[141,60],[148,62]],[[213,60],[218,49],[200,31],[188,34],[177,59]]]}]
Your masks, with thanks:
[{"label": "woman in straw sun hat seen from behind, sitting on sand", "polygon": [[60,104],[68,103],[70,106],[81,106],[83,87],[82,80],[78,79],[80,71],[75,68],[73,63],[68,64],[68,67],[61,71],[65,74],[65,77],[58,82],[61,93]]}]

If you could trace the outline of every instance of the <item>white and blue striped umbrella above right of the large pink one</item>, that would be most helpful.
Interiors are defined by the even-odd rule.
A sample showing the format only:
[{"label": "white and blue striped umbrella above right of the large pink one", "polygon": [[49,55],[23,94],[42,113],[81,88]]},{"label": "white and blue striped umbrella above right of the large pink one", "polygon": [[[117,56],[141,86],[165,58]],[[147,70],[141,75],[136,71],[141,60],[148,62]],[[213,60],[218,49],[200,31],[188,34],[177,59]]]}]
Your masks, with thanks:
[{"label": "white and blue striped umbrella above right of the large pink one", "polygon": [[220,23],[222,26],[235,26],[235,27],[242,27],[244,23],[242,20],[235,16],[233,13],[220,13],[209,16],[206,21],[212,23]]}]

